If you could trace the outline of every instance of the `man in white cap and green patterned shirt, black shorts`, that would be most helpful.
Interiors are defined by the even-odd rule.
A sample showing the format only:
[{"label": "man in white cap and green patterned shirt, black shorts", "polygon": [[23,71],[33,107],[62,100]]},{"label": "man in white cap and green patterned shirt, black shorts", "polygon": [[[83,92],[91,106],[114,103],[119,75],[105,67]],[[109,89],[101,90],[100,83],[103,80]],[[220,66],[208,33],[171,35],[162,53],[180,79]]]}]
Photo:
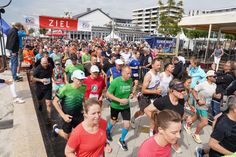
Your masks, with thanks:
[{"label": "man in white cap and green patterned shirt, black shorts", "polygon": [[[62,129],[57,124],[53,125],[55,136],[60,135],[68,140],[72,128],[83,121],[83,101],[86,86],[82,84],[85,74],[81,70],[75,70],[71,76],[73,83],[62,87],[53,99],[53,105],[59,115],[63,118]],[[61,106],[61,107],[60,107]]]}]

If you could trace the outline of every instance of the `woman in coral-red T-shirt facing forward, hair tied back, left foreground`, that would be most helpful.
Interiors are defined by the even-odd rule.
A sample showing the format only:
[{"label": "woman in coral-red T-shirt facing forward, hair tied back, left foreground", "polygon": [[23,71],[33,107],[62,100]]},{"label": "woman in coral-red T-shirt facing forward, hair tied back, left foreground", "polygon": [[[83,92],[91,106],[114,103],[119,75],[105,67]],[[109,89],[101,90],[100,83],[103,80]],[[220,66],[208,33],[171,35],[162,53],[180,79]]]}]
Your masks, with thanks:
[{"label": "woman in coral-red T-shirt facing forward, hair tied back, left foreground", "polygon": [[111,153],[112,148],[106,143],[106,125],[107,122],[101,118],[99,102],[88,99],[84,105],[84,121],[73,130],[65,148],[65,155],[104,157],[104,149]]}]

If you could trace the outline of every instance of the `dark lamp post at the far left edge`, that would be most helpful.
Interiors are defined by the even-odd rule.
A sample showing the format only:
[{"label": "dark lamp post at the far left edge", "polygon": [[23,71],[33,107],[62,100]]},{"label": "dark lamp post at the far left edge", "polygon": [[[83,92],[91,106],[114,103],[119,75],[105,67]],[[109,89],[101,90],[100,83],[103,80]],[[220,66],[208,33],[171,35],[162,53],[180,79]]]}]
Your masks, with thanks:
[{"label": "dark lamp post at the far left edge", "polygon": [[0,19],[1,19],[1,23],[0,23],[0,46],[1,46],[1,51],[2,51],[2,62],[3,62],[3,69],[5,69],[7,67],[6,64],[6,52],[5,52],[5,40],[4,40],[4,36],[3,36],[3,28],[2,28],[2,14],[5,13],[5,7],[9,6],[11,4],[12,0],[8,0],[7,3],[2,4],[3,2],[0,3]]}]

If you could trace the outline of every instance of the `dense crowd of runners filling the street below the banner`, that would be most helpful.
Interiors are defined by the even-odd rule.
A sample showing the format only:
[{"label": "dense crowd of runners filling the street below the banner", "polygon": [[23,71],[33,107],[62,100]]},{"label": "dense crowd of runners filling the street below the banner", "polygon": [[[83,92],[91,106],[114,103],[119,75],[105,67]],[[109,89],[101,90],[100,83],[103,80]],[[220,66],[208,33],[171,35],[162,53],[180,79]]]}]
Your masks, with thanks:
[{"label": "dense crowd of runners filling the street below the banner", "polygon": [[[184,138],[180,136],[182,126],[201,144],[200,134],[209,120],[215,124],[209,148],[198,147],[196,155],[235,155],[235,61],[225,62],[222,71],[214,63],[203,70],[195,57],[190,63],[183,56],[159,59],[158,51],[146,42],[99,38],[26,38],[23,45],[20,62],[33,73],[38,110],[46,105],[47,123],[54,135],[68,141],[66,156],[112,153],[109,143],[119,113],[123,125],[118,144],[124,151],[136,119],[146,115],[150,121],[150,137],[140,143],[139,157],[169,157],[171,148],[181,153],[178,139]],[[19,77],[17,74],[15,80],[20,81]],[[140,110],[131,113],[130,100],[134,98]],[[106,120],[101,118],[105,99],[110,104]],[[52,107],[62,117],[60,127],[52,124]],[[198,123],[194,131],[193,123]]]}]

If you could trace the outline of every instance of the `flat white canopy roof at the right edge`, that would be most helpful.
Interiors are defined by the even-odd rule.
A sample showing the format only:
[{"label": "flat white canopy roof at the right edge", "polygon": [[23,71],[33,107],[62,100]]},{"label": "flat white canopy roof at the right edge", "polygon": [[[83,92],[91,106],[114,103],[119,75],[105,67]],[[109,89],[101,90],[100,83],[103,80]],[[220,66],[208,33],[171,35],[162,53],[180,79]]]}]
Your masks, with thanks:
[{"label": "flat white canopy roof at the right edge", "polygon": [[178,25],[185,28],[208,30],[210,24],[212,24],[212,31],[218,32],[221,29],[222,33],[236,34],[236,11],[188,16],[182,18]]}]

